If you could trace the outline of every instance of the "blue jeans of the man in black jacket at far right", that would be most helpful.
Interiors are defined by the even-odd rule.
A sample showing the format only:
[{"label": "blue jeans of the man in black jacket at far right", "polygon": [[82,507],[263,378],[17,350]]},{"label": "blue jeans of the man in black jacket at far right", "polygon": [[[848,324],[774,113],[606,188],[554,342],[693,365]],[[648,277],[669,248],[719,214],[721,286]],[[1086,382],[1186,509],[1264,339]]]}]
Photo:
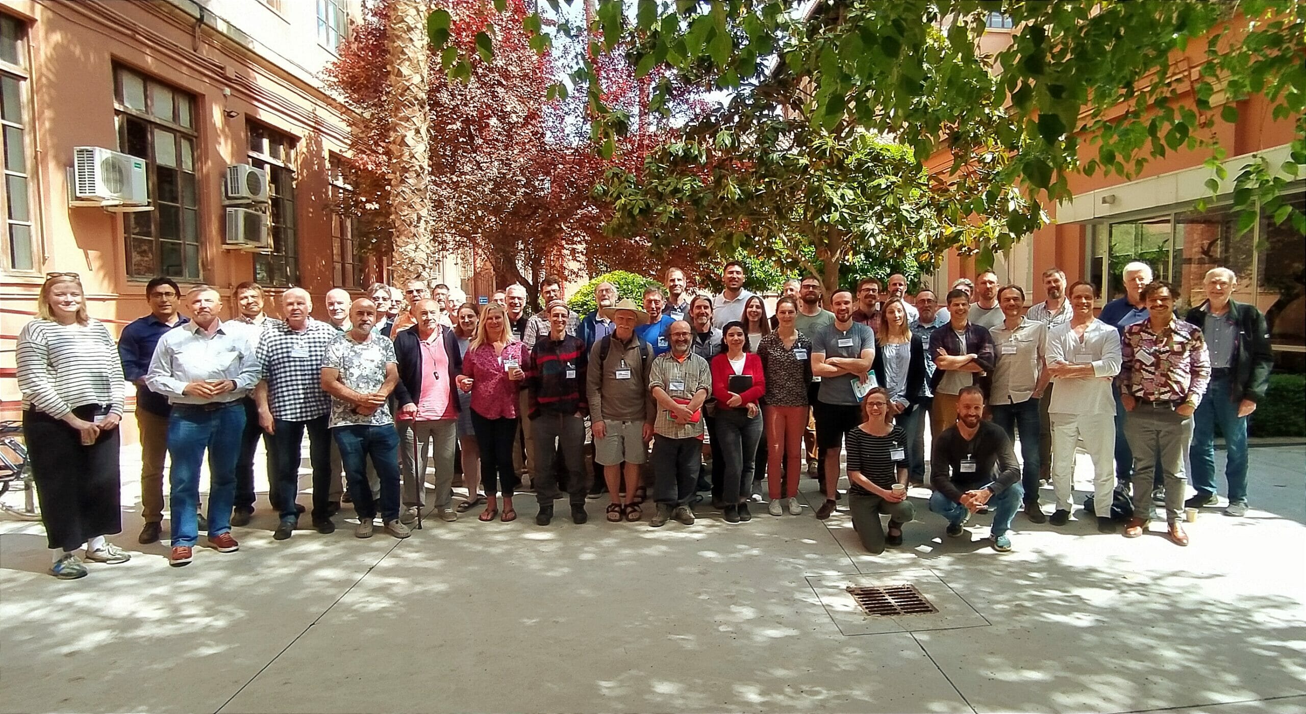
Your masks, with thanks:
[{"label": "blue jeans of the man in black jacket at far right", "polygon": [[1247,503],[1247,418],[1238,416],[1238,402],[1229,399],[1229,380],[1212,379],[1205,397],[1192,415],[1192,488],[1199,496],[1216,495],[1216,424],[1225,437],[1225,478],[1229,503]]}]

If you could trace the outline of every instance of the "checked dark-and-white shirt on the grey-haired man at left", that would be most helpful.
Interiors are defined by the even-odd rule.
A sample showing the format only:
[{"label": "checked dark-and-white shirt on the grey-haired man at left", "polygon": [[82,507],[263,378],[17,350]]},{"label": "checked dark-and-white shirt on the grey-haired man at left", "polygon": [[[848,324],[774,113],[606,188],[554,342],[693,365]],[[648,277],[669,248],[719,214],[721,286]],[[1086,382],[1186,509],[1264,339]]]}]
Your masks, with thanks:
[{"label": "checked dark-and-white shirt on the grey-haired man at left", "polygon": [[326,347],[340,333],[326,322],[308,318],[304,332],[277,321],[259,339],[259,363],[268,382],[268,407],[283,422],[308,422],[330,411],[330,396],[321,388]]}]

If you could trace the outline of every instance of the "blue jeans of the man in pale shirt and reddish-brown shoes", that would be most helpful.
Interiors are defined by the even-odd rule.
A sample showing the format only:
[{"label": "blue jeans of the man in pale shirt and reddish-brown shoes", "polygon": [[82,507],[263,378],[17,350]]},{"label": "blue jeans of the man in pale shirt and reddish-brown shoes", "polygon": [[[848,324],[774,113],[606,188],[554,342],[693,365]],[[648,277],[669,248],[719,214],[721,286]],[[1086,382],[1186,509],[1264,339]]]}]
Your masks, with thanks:
[{"label": "blue jeans of the man in pale shirt and reddish-brown shoes", "polygon": [[231,530],[231,504],[236,497],[236,458],[244,432],[240,401],[206,410],[174,405],[167,420],[168,508],[172,510],[172,547],[200,539],[196,510],[200,506],[200,466],[209,452],[209,538]]}]

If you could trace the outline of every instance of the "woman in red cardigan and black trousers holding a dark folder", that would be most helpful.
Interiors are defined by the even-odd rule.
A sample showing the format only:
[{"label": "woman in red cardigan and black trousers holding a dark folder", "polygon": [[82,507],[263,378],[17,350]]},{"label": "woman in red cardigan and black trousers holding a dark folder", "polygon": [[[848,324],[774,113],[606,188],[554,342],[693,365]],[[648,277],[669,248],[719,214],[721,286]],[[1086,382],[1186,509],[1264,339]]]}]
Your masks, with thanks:
[{"label": "woman in red cardigan and black trousers holding a dark folder", "polygon": [[751,521],[747,499],[752,495],[754,457],[761,441],[761,396],[767,377],[761,358],[748,351],[743,322],[727,322],[721,332],[721,352],[712,358],[712,396],[717,415],[713,439],[721,440],[725,484],[721,500],[727,523]]}]

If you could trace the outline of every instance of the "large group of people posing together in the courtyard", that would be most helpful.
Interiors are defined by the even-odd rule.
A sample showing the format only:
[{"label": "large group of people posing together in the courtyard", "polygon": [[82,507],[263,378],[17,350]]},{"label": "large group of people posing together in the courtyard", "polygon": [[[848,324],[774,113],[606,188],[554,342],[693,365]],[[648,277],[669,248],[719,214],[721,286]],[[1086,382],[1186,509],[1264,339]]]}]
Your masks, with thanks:
[{"label": "large group of people posing together in the courtyard", "polygon": [[[89,317],[77,274],[51,273],[17,345],[50,572],[77,578],[86,561],[129,559],[106,539],[121,530],[124,381],[136,386],[141,444],[138,540],[162,536],[170,462],[174,567],[192,561],[201,533],[217,552],[239,548],[232,527],[255,513],[260,442],[277,540],[304,512],[317,533],[334,531],[342,504],[358,538],[374,535],[377,516],[394,538],[428,516],[453,522],[477,508],[479,521],[511,522],[522,491],[534,492],[539,526],[564,496],[572,522],[585,523],[586,501],[605,492],[610,522],[691,525],[710,492],[713,512],[739,523],[764,500],[773,517],[801,516],[808,475],[825,520],[845,497],[846,463],[846,508],[867,551],[902,543],[917,518],[908,489],[918,486],[947,535],[991,512],[991,544],[1004,552],[1021,512],[1034,523],[1071,520],[1083,444],[1093,473],[1084,513],[1100,531],[1117,531],[1111,509],[1131,492],[1124,536],[1149,530],[1160,503],[1165,534],[1186,546],[1185,510],[1215,503],[1217,426],[1228,445],[1224,513],[1246,513],[1247,416],[1272,355],[1264,316],[1230,299],[1228,269],[1207,273],[1205,300],[1182,317],[1175,288],[1138,262],[1124,268],[1126,295],[1101,313],[1097,286],[1067,286],[1057,269],[1042,275],[1046,300],[1028,309],[1025,288],[990,270],[943,300],[929,287],[909,298],[899,274],[828,298],[806,277],[785,283],[769,311],[743,287],[743,265],[721,274],[717,295],[675,268],[665,288],[643,295],[602,283],[588,315],[562,300],[555,277],[534,315],[520,285],[485,305],[422,279],[402,291],[375,285],[359,299],[333,288],[326,320],[312,317],[313,298],[298,287],[277,296],[276,318],[264,288],[240,283],[227,318],[218,290],[183,292],[155,278],[150,313],[115,342]],[[306,433],[311,509],[298,503]],[[466,496],[454,504],[458,471]],[[1038,500],[1043,480],[1050,513]]]}]

